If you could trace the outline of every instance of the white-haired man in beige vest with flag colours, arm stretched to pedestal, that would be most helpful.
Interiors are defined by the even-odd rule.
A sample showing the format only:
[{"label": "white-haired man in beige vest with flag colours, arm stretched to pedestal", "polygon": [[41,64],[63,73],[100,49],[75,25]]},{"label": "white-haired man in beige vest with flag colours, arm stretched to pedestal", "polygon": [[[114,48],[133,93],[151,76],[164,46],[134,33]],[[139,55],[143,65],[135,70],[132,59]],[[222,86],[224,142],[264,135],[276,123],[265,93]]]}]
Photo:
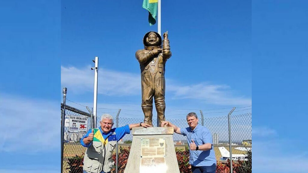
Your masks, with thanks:
[{"label": "white-haired man in beige vest with flag colours, arm stretched to pedestal", "polygon": [[112,153],[117,141],[129,134],[133,127],[151,127],[146,123],[136,123],[112,128],[113,117],[109,114],[102,115],[99,123],[99,128],[90,129],[80,139],[81,145],[87,147],[83,159],[84,173],[110,173],[114,165]]}]

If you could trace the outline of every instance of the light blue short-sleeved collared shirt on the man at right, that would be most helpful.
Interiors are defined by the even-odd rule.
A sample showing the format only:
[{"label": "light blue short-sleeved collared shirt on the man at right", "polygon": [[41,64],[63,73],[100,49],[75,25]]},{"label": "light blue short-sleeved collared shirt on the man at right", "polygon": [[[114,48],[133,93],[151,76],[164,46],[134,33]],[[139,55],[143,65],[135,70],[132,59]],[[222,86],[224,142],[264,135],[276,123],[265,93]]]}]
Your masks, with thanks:
[{"label": "light blue short-sleeved collared shirt on the man at right", "polygon": [[208,151],[192,151],[189,150],[189,164],[192,166],[211,166],[216,164],[216,157],[213,147],[213,139],[211,132],[208,128],[197,124],[196,128],[192,131],[190,127],[180,128],[181,134],[187,136],[188,147],[192,143],[192,139],[196,145],[203,145],[205,143],[211,143],[212,148]]}]

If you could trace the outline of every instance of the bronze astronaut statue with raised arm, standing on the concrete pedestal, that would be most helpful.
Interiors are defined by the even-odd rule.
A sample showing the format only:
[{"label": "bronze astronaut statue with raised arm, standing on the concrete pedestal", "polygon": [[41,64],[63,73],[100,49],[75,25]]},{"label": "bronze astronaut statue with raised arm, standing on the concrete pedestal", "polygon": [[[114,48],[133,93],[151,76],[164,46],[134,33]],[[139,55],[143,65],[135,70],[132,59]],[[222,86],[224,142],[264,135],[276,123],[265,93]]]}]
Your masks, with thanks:
[{"label": "bronze astronaut statue with raised arm, standing on the concrete pedestal", "polygon": [[163,48],[161,37],[151,31],[144,35],[144,49],[137,50],[136,58],[141,69],[142,111],[144,123],[152,124],[153,97],[157,111],[157,126],[165,120],[165,64],[171,57],[168,31],[164,34]]}]

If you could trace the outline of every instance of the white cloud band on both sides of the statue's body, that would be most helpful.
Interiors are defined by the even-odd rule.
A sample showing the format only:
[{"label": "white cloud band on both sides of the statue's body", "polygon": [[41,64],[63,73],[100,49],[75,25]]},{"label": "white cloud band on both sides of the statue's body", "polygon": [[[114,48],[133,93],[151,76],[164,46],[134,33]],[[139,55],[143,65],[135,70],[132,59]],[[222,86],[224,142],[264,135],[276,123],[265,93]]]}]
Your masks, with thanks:
[{"label": "white cloud band on both sides of the statue's body", "polygon": [[[93,92],[94,72],[86,68],[61,66],[61,85],[76,94]],[[140,74],[99,69],[98,93],[115,96],[141,94]],[[208,84],[179,85],[167,79],[166,89],[173,99],[198,99],[216,105],[251,105],[251,99],[233,96],[228,85]]]}]

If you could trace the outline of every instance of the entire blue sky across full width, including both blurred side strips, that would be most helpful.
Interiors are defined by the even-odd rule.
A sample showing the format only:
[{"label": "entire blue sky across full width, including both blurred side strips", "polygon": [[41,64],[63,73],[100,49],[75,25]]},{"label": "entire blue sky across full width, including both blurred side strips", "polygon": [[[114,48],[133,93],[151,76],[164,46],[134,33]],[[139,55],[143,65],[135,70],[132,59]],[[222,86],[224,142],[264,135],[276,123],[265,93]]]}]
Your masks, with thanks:
[{"label": "entire blue sky across full width, including both blurred side strips", "polygon": [[[98,107],[141,111],[135,52],[146,32],[157,31],[141,5],[1,2],[0,172],[60,172],[61,90],[67,87],[67,99],[92,106],[95,56]],[[217,117],[227,113],[206,110],[253,103],[253,172],[307,172],[306,5],[163,1],[161,30],[168,30],[172,51],[165,74],[167,119],[188,113],[171,109],[201,109],[205,117]],[[233,114],[252,112],[241,110]]]}]

